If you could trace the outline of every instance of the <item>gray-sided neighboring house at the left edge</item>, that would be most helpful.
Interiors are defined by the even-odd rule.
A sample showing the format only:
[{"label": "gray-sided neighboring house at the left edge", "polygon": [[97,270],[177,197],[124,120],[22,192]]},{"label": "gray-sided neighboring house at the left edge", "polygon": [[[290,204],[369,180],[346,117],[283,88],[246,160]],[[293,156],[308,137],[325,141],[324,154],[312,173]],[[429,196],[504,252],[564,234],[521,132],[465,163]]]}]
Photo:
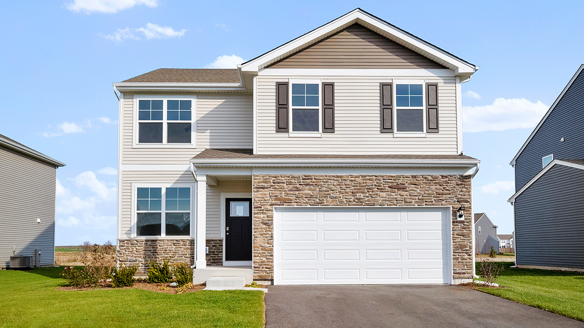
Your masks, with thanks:
[{"label": "gray-sided neighboring house at the left edge", "polygon": [[54,264],[55,184],[64,165],[0,135],[0,268],[12,255]]}]

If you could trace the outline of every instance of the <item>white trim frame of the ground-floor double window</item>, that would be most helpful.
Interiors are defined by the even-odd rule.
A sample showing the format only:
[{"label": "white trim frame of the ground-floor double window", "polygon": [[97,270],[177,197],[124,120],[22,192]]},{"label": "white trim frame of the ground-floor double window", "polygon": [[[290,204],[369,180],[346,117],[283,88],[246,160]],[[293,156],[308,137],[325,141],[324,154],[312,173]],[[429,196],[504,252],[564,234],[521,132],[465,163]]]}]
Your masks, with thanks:
[{"label": "white trim frame of the ground-floor double window", "polygon": [[[165,195],[166,195],[166,190],[165,188],[190,188],[190,232],[188,236],[166,236],[165,232],[166,232],[166,225],[165,225],[165,217],[164,217],[164,213],[165,212],[165,207],[166,207],[166,202],[165,202]],[[137,207],[136,207],[136,203],[137,203],[137,199],[136,197],[138,196],[138,188],[162,188],[162,207],[161,207],[161,235],[160,236],[138,236],[137,235]],[[131,236],[133,239],[194,239],[195,238],[195,225],[196,225],[196,220],[194,219],[193,214],[196,211],[196,205],[195,205],[195,191],[197,189],[197,185],[196,184],[189,184],[189,183],[175,183],[175,184],[135,184],[132,183],[132,213],[131,213]],[[184,211],[169,211],[169,213],[178,213],[178,212],[184,212]]]}]

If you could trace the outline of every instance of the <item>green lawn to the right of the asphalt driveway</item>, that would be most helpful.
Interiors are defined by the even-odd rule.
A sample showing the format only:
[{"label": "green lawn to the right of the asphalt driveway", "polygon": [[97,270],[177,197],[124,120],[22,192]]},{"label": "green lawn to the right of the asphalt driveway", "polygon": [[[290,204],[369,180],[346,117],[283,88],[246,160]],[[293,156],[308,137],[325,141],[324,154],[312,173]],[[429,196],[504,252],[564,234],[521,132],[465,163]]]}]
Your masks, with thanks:
[{"label": "green lawn to the right of the asphalt driveway", "polygon": [[[478,271],[477,263],[477,274]],[[535,306],[550,312],[584,321],[584,274],[567,271],[547,271],[511,268],[496,281],[506,289],[478,288],[502,298]]]}]

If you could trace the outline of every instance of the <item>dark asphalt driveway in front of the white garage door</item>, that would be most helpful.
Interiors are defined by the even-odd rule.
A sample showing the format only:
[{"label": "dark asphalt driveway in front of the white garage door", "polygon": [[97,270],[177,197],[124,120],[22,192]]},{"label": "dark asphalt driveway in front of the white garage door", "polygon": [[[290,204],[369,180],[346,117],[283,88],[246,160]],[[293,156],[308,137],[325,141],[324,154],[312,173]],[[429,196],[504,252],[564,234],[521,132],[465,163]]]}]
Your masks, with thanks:
[{"label": "dark asphalt driveway in front of the white garage door", "polygon": [[454,285],[269,286],[266,327],[584,327]]}]

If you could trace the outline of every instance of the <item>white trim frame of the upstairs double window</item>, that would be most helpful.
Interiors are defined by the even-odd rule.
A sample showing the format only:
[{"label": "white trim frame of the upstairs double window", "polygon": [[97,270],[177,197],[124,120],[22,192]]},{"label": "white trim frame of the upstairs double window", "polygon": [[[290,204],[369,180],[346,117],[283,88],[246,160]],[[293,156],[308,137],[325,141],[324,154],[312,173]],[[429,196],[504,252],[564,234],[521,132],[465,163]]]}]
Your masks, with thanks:
[{"label": "white trim frame of the upstairs double window", "polygon": [[[139,100],[164,100],[162,103],[162,121],[142,121],[142,122],[162,122],[162,143],[138,143],[140,131],[138,131],[138,103]],[[191,143],[166,143],[168,138],[168,120],[166,115],[167,100],[190,100],[192,104],[190,113],[190,142]],[[196,95],[159,95],[159,94],[135,94],[134,95],[134,142],[133,148],[196,148],[197,147],[197,96]],[[179,121],[171,121],[179,122]],[[183,123],[189,121],[180,121]]]}]

